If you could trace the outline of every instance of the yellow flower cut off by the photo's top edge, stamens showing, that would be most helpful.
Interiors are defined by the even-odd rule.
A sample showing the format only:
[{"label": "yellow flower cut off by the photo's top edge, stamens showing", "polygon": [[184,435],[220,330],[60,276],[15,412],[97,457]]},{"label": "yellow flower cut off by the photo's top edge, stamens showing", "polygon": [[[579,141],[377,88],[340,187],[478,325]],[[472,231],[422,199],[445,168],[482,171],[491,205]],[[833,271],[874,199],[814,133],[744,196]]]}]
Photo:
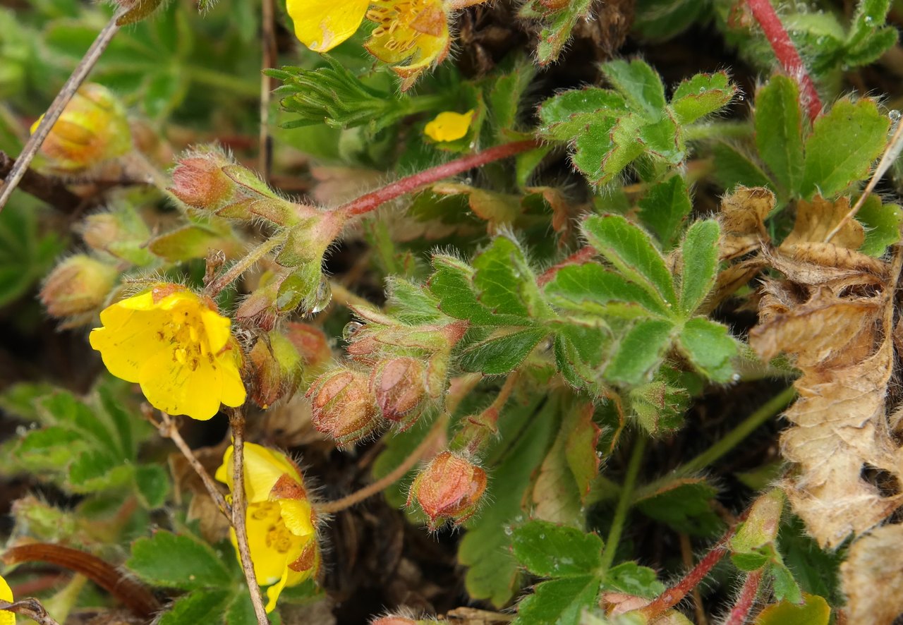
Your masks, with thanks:
[{"label": "yellow flower cut off by the photo's top edge, stamens showing", "polygon": [[295,35],[318,52],[348,39],[365,16],[376,22],[366,47],[380,61],[396,65],[392,70],[403,79],[402,90],[442,61],[452,42],[441,0],[287,0],[285,6]]}]

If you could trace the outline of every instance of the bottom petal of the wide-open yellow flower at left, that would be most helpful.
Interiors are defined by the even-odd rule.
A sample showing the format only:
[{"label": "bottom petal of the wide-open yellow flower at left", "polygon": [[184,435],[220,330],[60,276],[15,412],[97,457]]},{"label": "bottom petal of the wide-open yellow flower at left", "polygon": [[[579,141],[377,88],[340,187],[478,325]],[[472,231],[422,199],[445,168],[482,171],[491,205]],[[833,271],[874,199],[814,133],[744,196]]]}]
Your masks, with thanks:
[{"label": "bottom petal of the wide-open yellow flower at left", "polygon": [[141,368],[138,382],[151,406],[171,415],[188,415],[206,421],[219,412],[222,378],[219,369],[207,359],[198,368],[174,359],[162,350]]}]

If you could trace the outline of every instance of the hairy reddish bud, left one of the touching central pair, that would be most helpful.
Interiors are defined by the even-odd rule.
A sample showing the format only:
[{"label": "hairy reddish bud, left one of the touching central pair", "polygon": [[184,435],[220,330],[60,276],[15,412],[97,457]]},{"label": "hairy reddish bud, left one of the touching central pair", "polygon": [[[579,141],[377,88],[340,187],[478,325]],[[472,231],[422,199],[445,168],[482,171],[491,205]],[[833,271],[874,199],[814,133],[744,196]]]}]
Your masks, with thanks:
[{"label": "hairy reddish bud, left one of the touching central pair", "polygon": [[327,371],[307,391],[313,426],[340,446],[357,443],[380,423],[368,377],[349,368]]}]

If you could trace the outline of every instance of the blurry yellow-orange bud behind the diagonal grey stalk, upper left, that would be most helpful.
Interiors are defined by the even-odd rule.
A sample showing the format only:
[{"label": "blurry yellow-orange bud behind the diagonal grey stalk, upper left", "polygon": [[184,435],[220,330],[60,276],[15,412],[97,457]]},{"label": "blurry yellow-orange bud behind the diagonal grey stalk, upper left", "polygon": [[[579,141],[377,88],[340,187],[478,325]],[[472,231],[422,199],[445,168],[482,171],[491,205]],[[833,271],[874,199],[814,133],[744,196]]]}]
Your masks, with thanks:
[{"label": "blurry yellow-orange bud behind the diagonal grey stalk, upper left", "polygon": [[[41,119],[34,123],[34,132]],[[79,172],[132,151],[126,109],[101,85],[82,85],[51,128],[41,152],[61,172]]]}]

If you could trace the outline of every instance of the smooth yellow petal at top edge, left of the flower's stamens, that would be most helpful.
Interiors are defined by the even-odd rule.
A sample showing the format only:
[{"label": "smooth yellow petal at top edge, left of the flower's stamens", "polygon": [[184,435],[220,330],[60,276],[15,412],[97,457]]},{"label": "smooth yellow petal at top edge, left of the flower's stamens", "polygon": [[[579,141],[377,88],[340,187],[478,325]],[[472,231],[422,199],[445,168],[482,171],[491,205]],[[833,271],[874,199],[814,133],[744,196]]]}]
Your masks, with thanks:
[{"label": "smooth yellow petal at top edge, left of the flower's stamens", "polygon": [[287,0],[295,36],[312,51],[325,52],[357,32],[369,0]]}]

